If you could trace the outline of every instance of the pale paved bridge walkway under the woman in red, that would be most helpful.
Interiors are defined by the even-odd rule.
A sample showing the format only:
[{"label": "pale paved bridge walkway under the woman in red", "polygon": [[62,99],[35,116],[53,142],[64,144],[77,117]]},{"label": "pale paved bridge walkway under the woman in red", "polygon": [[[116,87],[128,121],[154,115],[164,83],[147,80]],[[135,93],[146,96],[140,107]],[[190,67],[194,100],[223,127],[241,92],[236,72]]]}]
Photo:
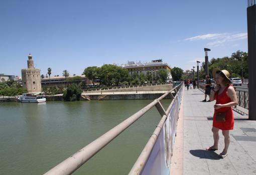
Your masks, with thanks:
[{"label": "pale paved bridge walkway under the woman in red", "polygon": [[203,99],[202,91],[184,88],[170,174],[256,174],[256,121],[234,111],[228,155],[222,159],[218,156],[224,148],[221,130],[218,150],[205,149],[213,145],[216,101],[201,102]]}]

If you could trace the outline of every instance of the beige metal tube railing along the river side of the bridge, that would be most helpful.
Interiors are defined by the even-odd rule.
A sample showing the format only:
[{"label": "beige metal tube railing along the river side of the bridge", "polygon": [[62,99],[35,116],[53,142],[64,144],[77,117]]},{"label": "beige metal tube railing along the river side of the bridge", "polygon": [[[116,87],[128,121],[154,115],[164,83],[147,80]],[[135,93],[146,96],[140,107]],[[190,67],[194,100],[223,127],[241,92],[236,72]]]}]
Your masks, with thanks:
[{"label": "beige metal tube railing along the river side of the bridge", "polygon": [[[101,150],[104,146],[106,146],[109,142],[111,142],[116,136],[118,136],[122,131],[124,131],[126,128],[128,128],[130,125],[132,125],[136,120],[138,120],[141,116],[143,116],[147,111],[149,111],[152,107],[156,106],[158,109],[160,115],[162,116],[159,124],[157,125],[155,131],[153,132],[152,136],[150,137],[148,143],[146,144],[145,148],[143,149],[142,153],[140,154],[139,158],[137,159],[136,163],[134,164],[133,168],[131,169],[129,174],[141,174],[144,166],[150,156],[150,153],[153,149],[153,146],[155,145],[157,138],[159,136],[159,133],[161,131],[161,128],[163,127],[165,120],[167,119],[168,114],[170,113],[172,106],[174,102],[180,103],[181,101],[181,95],[182,95],[182,89],[183,89],[183,83],[176,86],[175,88],[171,89],[170,91],[163,94],[158,99],[155,99],[153,102],[145,106],[143,109],[139,110],[129,118],[125,119],[123,122],[118,124],[117,126],[113,127],[100,137],[98,137],[96,140],[89,143],[87,146],[83,147],[49,171],[47,171],[45,174],[71,174],[75,170],[77,170],[81,165],[83,165],[86,161],[88,161],[93,155],[95,155],[99,150]],[[171,98],[173,99],[171,104],[169,105],[167,110],[164,110],[162,104],[160,101],[165,98],[167,95],[171,95]],[[176,107],[180,107],[180,105],[176,105]],[[175,110],[176,112],[177,109]],[[177,126],[177,120],[178,115],[175,114],[173,118],[173,123],[175,126]],[[176,133],[176,127],[175,130],[172,129],[172,132]],[[175,134],[174,133],[174,134]]]}]

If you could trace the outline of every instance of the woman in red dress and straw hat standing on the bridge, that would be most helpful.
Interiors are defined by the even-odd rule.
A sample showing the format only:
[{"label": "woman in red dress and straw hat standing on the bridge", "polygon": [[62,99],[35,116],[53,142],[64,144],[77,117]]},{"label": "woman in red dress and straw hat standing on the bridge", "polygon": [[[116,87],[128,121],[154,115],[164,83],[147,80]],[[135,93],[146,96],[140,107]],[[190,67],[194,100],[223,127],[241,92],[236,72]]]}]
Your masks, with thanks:
[{"label": "woman in red dress and straw hat standing on the bridge", "polygon": [[214,115],[212,132],[214,144],[208,147],[207,150],[217,150],[219,141],[219,130],[222,130],[224,136],[225,147],[223,151],[219,154],[221,158],[227,156],[227,149],[229,146],[229,130],[234,127],[234,115],[232,106],[238,104],[235,90],[229,80],[229,72],[226,70],[220,71],[215,68],[212,71],[213,77],[215,77],[215,82],[217,86],[212,90],[210,95],[210,100],[216,100],[214,105]]}]

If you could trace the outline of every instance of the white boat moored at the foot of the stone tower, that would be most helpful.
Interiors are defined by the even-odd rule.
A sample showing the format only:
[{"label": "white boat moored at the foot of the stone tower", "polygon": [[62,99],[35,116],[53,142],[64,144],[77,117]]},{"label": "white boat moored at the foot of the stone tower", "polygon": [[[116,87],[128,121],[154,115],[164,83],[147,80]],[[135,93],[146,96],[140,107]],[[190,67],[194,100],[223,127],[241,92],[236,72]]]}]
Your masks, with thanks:
[{"label": "white boat moored at the foot of the stone tower", "polygon": [[20,102],[25,103],[40,103],[45,102],[45,93],[44,92],[33,92],[33,93],[24,93],[19,97]]}]

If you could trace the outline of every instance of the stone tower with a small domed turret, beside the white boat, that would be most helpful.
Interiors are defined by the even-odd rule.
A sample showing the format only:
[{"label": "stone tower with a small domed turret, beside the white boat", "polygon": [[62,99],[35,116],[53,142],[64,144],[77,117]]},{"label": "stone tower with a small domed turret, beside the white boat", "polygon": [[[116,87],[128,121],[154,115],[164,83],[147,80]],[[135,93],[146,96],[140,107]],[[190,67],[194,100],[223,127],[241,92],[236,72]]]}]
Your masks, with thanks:
[{"label": "stone tower with a small domed turret, beside the white boat", "polygon": [[22,85],[28,92],[41,92],[40,69],[34,67],[31,54],[29,54],[28,69],[22,69]]}]

